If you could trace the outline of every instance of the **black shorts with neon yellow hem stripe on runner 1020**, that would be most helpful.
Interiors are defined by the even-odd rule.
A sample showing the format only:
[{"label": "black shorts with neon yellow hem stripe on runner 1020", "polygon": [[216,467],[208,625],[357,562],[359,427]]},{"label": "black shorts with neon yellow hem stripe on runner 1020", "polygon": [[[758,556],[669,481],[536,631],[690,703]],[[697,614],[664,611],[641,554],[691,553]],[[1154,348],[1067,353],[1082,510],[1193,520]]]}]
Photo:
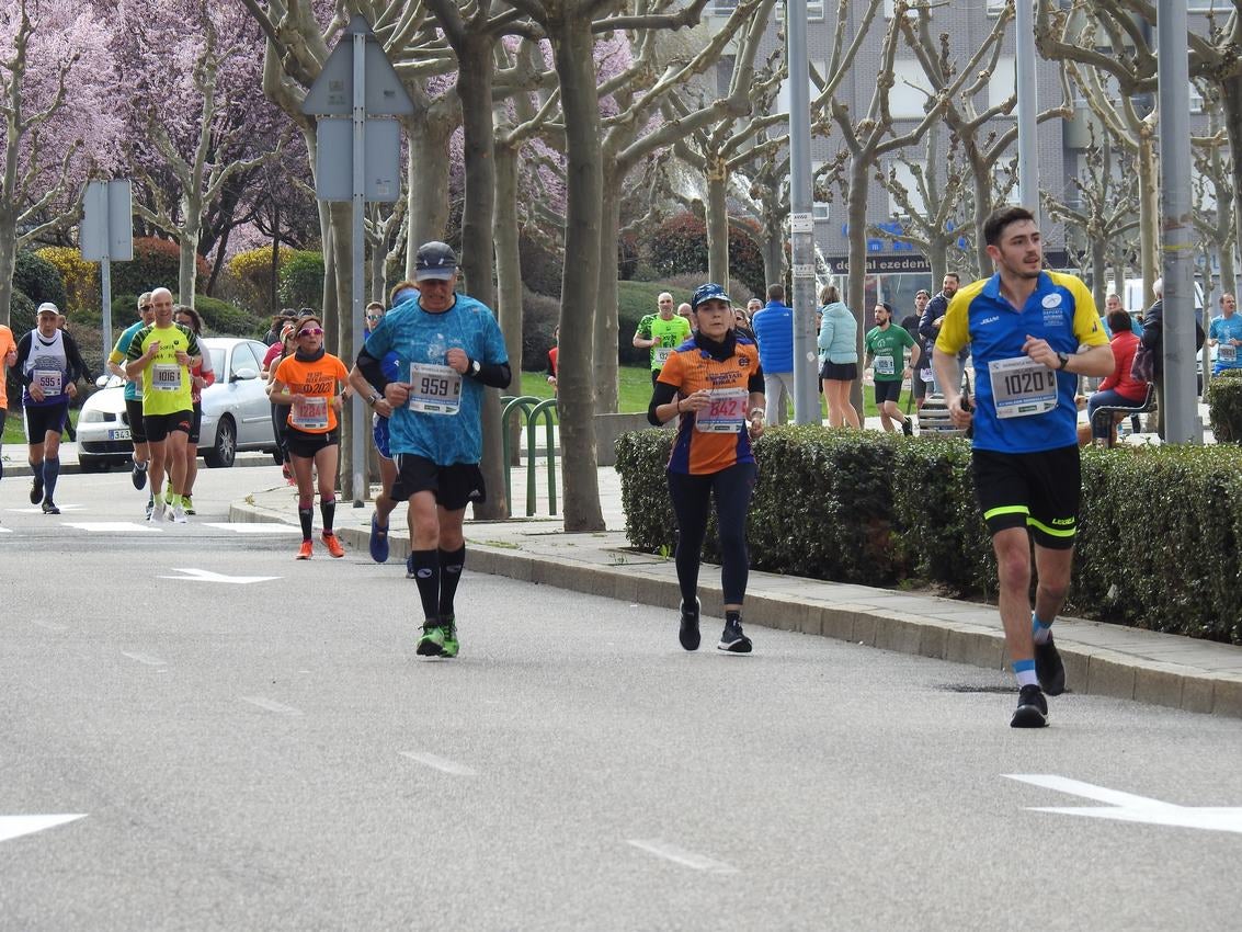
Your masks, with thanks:
[{"label": "black shorts with neon yellow hem stripe on runner 1020", "polygon": [[1023,527],[1040,547],[1068,551],[1074,546],[1082,471],[1078,446],[1033,454],[971,454],[975,495],[991,533]]}]

